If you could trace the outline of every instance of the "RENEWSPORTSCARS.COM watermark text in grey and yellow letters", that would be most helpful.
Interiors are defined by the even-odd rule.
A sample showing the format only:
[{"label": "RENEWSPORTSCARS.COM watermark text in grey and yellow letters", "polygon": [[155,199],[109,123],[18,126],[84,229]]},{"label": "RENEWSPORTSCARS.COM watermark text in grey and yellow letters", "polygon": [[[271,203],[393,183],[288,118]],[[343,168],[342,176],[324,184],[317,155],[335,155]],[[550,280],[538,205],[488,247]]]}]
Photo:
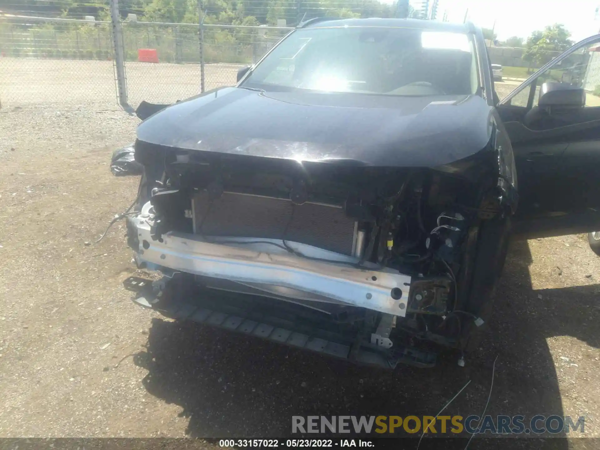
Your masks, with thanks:
[{"label": "RENEWSPORTSCARS.COM watermark text in grey and yellow letters", "polygon": [[292,416],[292,433],[584,433],[583,416]]}]

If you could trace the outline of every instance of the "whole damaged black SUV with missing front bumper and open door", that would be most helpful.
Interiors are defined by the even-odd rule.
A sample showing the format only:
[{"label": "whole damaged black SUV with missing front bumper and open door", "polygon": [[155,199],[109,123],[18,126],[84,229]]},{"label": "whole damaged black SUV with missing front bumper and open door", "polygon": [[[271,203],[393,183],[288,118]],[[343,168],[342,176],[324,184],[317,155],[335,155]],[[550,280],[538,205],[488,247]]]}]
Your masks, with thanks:
[{"label": "whole damaged black SUV with missing front bumper and open door", "polygon": [[365,364],[467,349],[511,235],[598,228],[600,101],[548,76],[592,67],[597,42],[500,101],[470,24],[303,23],[235,87],[140,114],[128,243],[164,276],[126,286],[166,316]]}]

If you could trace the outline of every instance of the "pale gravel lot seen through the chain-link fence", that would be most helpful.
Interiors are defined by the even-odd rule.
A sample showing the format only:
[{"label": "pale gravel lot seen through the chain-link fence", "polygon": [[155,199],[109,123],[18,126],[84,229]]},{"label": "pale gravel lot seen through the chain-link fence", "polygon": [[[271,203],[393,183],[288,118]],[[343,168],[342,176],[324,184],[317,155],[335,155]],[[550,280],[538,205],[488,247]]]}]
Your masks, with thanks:
[{"label": "pale gravel lot seen through the chain-link fence", "polygon": [[[206,64],[205,89],[234,85],[242,65]],[[131,106],[142,100],[173,103],[200,93],[199,64],[126,62]],[[0,58],[0,101],[5,107],[23,104],[94,103],[114,107],[115,71],[112,61],[77,59]]]}]

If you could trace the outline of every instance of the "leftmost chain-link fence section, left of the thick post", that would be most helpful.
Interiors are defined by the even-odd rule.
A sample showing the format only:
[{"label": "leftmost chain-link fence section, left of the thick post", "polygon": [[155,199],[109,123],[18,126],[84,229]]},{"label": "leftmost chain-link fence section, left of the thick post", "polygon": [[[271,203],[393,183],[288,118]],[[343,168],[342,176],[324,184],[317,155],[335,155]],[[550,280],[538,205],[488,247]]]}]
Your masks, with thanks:
[{"label": "leftmost chain-link fence section, left of the thick post", "polygon": [[0,103],[115,103],[110,22],[0,17]]}]

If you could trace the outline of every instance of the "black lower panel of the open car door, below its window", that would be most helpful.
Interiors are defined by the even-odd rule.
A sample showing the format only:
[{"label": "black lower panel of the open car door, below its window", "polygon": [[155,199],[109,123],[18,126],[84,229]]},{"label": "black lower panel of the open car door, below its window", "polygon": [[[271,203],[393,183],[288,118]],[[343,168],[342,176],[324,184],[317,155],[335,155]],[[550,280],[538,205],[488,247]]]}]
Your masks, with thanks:
[{"label": "black lower panel of the open car door, below its window", "polygon": [[506,125],[516,141],[516,231],[536,238],[600,229],[600,121],[541,133]]}]

